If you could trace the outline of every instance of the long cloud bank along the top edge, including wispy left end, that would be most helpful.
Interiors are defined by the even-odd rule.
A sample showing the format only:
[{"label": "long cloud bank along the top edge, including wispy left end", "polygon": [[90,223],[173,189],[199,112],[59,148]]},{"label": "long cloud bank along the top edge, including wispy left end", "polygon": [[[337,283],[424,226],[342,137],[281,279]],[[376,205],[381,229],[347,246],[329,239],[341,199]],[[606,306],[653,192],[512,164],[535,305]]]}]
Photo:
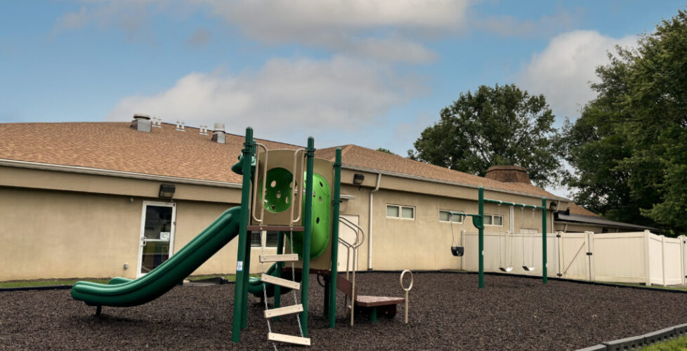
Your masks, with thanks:
[{"label": "long cloud bank along the top edge, including wispy left end", "polygon": [[[437,55],[422,41],[466,26],[471,0],[117,0],[88,1],[55,22],[53,32],[89,24],[116,25],[130,40],[148,17],[162,11],[207,9],[247,37],[268,44],[303,44],[334,54],[386,62],[431,62]],[[152,41],[150,38],[146,38]]]}]

